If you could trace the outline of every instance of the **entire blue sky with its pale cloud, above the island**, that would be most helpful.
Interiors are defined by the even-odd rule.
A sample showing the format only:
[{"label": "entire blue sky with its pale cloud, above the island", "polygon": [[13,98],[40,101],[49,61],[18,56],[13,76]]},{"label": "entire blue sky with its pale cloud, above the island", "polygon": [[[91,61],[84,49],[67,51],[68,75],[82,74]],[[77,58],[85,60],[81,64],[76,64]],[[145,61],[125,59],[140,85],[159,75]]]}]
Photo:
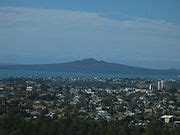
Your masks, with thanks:
[{"label": "entire blue sky with its pale cloud, above the island", "polygon": [[0,0],[0,64],[84,58],[180,69],[180,1]]}]

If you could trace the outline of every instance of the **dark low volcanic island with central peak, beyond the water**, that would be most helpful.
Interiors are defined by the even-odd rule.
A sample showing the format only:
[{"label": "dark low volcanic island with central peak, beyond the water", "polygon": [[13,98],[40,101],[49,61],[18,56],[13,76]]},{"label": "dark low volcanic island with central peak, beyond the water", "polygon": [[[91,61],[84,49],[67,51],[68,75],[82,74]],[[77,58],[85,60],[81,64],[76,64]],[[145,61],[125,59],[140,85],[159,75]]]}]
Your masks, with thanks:
[{"label": "dark low volcanic island with central peak, beyond the water", "polygon": [[0,65],[0,69],[106,74],[180,75],[180,70],[176,69],[148,69],[97,61],[92,58],[58,64]]}]

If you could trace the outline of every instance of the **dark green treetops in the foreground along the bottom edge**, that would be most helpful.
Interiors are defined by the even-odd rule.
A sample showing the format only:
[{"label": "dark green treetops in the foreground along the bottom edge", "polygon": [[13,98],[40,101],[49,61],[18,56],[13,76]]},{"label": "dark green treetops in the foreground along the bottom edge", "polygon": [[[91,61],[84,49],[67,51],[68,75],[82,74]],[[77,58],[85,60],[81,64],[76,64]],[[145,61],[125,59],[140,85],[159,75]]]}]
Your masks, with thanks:
[{"label": "dark green treetops in the foreground along the bottom edge", "polygon": [[38,117],[24,119],[16,111],[0,116],[0,135],[179,135],[180,127],[168,128],[157,122],[147,128],[128,126],[126,122]]}]

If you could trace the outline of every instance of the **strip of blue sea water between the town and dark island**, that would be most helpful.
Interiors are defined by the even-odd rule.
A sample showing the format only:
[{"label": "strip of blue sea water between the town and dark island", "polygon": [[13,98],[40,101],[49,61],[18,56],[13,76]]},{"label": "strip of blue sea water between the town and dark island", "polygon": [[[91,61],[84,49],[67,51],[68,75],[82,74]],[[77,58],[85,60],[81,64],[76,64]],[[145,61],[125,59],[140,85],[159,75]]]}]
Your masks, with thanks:
[{"label": "strip of blue sea water between the town and dark island", "polygon": [[151,78],[180,79],[177,76],[134,75],[134,74],[101,74],[101,73],[70,73],[31,70],[0,70],[0,79],[9,77],[104,77],[104,78]]}]

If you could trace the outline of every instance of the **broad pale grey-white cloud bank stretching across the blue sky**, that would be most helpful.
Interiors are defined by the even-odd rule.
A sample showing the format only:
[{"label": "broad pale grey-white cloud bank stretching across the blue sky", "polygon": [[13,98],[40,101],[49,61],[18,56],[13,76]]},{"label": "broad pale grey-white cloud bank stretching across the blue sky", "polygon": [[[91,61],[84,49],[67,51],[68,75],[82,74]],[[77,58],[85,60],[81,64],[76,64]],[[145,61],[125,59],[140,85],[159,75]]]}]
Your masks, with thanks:
[{"label": "broad pale grey-white cloud bank stretching across the blue sky", "polygon": [[178,60],[179,37],[180,25],[163,20],[0,7],[1,55]]}]

